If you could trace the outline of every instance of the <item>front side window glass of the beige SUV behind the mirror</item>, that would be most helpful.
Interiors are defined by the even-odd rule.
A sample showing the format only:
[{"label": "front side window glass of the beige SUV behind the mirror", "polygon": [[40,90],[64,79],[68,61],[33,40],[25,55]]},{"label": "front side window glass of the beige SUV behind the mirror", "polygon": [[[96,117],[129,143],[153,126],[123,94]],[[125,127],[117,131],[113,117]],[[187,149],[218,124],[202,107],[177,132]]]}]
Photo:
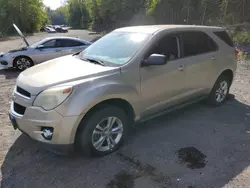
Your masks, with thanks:
[{"label": "front side window glass of the beige SUV behind the mirror", "polygon": [[165,36],[159,39],[147,53],[146,58],[151,54],[165,55],[168,61],[180,58],[180,45],[177,36]]}]

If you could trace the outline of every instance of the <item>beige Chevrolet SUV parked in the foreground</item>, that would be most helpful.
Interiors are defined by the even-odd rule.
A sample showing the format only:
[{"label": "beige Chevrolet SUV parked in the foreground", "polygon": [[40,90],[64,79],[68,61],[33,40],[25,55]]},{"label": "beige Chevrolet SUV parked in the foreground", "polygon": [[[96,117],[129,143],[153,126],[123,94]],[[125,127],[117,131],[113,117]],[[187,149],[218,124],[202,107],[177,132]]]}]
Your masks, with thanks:
[{"label": "beige Chevrolet SUV parked in the foreground", "polygon": [[22,72],[10,119],[40,142],[106,155],[135,122],[202,99],[223,104],[235,70],[223,28],[120,28],[78,54]]}]

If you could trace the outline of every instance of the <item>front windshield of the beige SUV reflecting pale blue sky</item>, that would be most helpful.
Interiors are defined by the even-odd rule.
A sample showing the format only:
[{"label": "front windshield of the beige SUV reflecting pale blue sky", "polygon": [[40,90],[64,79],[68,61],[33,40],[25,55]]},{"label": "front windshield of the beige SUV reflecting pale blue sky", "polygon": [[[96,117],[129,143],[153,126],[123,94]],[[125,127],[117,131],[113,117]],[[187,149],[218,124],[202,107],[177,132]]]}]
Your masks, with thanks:
[{"label": "front windshield of the beige SUV reflecting pale blue sky", "polygon": [[149,34],[144,33],[112,32],[90,45],[79,56],[83,59],[123,65],[136,54],[149,37]]}]

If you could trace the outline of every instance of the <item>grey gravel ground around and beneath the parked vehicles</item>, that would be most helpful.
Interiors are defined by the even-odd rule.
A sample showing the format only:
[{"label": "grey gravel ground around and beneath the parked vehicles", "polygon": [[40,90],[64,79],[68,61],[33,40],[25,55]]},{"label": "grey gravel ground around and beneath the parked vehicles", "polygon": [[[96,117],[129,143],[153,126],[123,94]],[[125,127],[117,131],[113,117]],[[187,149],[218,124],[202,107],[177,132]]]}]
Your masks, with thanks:
[{"label": "grey gravel ground around and beneath the parked vehicles", "polygon": [[[71,31],[68,35],[80,34],[84,39],[90,37],[86,31]],[[0,43],[0,51],[17,42],[20,41]],[[138,125],[119,151],[92,159],[54,155],[13,130],[7,113],[17,75],[15,71],[0,70],[2,188],[247,188],[250,185],[250,70],[245,63],[239,63],[230,98],[224,106],[194,104]]]}]

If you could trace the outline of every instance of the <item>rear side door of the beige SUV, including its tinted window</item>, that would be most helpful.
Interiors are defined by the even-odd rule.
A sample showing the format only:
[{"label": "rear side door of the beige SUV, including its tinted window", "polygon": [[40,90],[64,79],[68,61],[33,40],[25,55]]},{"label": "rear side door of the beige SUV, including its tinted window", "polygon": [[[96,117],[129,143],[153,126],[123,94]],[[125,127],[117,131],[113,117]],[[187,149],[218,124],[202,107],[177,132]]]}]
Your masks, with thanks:
[{"label": "rear side door of the beige SUV, including its tinted window", "polygon": [[187,100],[207,94],[217,72],[218,45],[205,32],[186,31],[181,33],[181,48]]}]

